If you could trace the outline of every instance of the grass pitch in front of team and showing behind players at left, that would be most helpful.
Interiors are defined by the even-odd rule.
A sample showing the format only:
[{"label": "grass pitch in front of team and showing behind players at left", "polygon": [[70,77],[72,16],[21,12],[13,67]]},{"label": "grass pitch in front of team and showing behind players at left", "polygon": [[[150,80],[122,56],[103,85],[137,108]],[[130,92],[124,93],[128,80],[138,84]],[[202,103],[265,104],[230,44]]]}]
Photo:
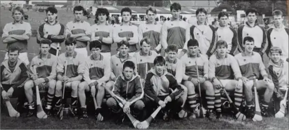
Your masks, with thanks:
[{"label": "grass pitch in front of team and showing behind players at left", "polygon": [[[33,30],[37,30],[45,18],[45,13],[36,13],[31,11],[28,13],[29,21]],[[66,11],[59,11],[58,19],[64,25],[73,20],[72,13]],[[11,12],[1,9],[0,26],[3,29],[6,23],[12,21]],[[91,19],[89,23],[93,24]],[[64,45],[62,45],[64,47]],[[0,62],[3,61],[5,56],[6,45],[2,43],[0,38]],[[32,37],[28,45],[29,60],[38,54],[39,46],[36,43],[36,38]],[[112,54],[116,53],[116,44],[112,46]],[[12,104],[16,106],[16,99],[12,100]],[[164,122],[161,119],[156,119],[150,125],[150,129],[288,129],[288,115],[281,119],[273,117],[263,118],[260,122],[253,121],[236,121],[231,117],[224,116],[222,119],[216,121],[209,121],[205,118],[189,120],[185,119],[172,119],[169,122]],[[130,122],[117,125],[112,119],[105,120],[104,122],[96,122],[94,117],[90,116],[88,119],[75,119],[64,118],[62,121],[55,117],[47,119],[38,119],[37,117],[31,118],[10,118],[7,111],[1,113],[0,129],[132,129]]]}]

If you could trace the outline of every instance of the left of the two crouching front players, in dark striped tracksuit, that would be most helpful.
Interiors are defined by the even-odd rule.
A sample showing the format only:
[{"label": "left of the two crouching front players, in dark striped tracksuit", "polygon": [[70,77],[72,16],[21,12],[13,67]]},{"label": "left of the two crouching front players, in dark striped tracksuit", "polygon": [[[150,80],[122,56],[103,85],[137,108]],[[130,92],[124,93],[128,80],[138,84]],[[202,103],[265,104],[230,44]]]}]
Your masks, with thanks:
[{"label": "left of the two crouching front players, in dark striped tracksuit", "polygon": [[123,112],[130,113],[131,109],[134,115],[141,117],[144,102],[141,100],[144,95],[141,78],[134,74],[135,64],[132,61],[126,61],[123,65],[123,74],[118,76],[114,86],[113,93],[116,98],[110,97],[107,100],[107,105],[114,113],[120,113],[121,109],[116,99],[121,98],[119,102],[123,103]]}]

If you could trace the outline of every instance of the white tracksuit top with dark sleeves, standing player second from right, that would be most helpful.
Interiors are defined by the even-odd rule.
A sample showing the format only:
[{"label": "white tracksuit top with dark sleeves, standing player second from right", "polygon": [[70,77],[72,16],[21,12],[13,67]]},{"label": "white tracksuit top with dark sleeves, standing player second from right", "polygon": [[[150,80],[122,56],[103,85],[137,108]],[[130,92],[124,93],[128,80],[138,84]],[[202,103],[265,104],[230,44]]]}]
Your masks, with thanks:
[{"label": "white tracksuit top with dark sleeves, standing player second from right", "polygon": [[247,22],[240,26],[237,30],[238,33],[238,42],[239,42],[239,51],[244,51],[243,40],[245,37],[250,36],[254,39],[254,45],[256,48],[259,48],[259,54],[262,56],[265,51],[268,49],[266,31],[263,27],[259,26],[258,23],[255,23],[251,27]]}]

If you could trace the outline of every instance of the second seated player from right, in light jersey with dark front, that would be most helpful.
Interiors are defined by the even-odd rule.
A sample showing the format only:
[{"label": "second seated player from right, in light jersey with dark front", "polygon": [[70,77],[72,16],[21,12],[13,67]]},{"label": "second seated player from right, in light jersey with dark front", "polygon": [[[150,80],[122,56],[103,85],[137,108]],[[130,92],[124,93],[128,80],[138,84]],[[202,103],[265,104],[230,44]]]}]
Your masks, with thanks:
[{"label": "second seated player from right, in light jersey with dark front", "polygon": [[264,93],[264,102],[261,103],[261,114],[268,116],[268,103],[271,100],[274,84],[268,79],[268,75],[265,70],[265,66],[262,62],[262,58],[259,53],[253,52],[254,39],[252,37],[245,37],[243,40],[244,52],[235,55],[235,59],[239,63],[239,67],[242,74],[242,81],[244,84],[244,92],[247,105],[247,117],[253,117],[255,114],[254,102],[253,102],[253,77],[259,79],[260,76],[263,80],[256,80],[257,90],[266,89]]}]

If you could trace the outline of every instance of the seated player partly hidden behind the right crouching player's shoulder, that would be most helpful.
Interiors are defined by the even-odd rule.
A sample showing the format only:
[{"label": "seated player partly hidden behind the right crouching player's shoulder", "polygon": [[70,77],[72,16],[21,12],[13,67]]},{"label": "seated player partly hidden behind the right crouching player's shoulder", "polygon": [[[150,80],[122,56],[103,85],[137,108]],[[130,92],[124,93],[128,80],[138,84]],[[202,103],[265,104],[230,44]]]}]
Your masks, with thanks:
[{"label": "seated player partly hidden behind the right crouching player's shoulder", "polygon": [[[166,69],[169,73],[175,76],[177,82],[181,87],[184,89],[184,93],[182,94],[181,98],[183,99],[182,108],[185,105],[188,95],[188,89],[184,85],[181,84],[183,73],[185,67],[183,66],[183,62],[177,58],[178,48],[175,45],[169,45],[167,47],[167,56],[166,56]],[[182,109],[179,113],[179,117],[183,118],[187,116],[187,112]]]}]

